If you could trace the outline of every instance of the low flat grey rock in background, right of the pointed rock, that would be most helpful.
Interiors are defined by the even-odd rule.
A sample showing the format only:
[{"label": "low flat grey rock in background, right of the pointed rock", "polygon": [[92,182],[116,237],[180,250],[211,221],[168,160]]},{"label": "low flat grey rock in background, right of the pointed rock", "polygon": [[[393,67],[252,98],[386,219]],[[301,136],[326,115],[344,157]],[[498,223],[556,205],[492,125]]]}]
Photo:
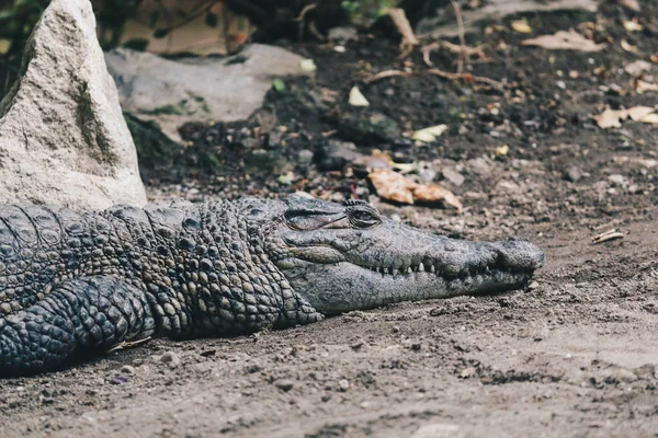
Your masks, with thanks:
[{"label": "low flat grey rock in background, right of the pointed rock", "polygon": [[156,122],[171,139],[188,122],[235,122],[258,110],[272,79],[304,74],[304,58],[253,44],[229,58],[164,59],[126,48],[105,55],[124,111]]}]

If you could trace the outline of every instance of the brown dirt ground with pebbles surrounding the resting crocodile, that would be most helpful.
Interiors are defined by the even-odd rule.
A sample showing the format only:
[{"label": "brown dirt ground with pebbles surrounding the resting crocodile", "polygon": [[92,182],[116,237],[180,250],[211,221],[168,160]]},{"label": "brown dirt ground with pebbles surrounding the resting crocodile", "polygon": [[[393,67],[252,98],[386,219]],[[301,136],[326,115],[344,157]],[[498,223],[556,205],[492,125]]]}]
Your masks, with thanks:
[{"label": "brown dirt ground with pebbles surrounding the resting crocodile", "polygon": [[[361,83],[365,110],[348,105],[351,87],[388,69],[422,71],[420,50],[405,65],[397,44],[379,37],[362,35],[345,53],[294,46],[315,60],[315,78],[285,81],[252,120],[186,126],[190,145],[177,165],[144,172],[154,200],[306,191],[370,198],[452,237],[526,237],[547,257],[527,290],[237,338],[155,339],[4,380],[0,436],[658,436],[658,125],[601,129],[591,118],[605,105],[656,104],[658,93],[638,94],[623,69],[658,54],[658,4],[642,2],[633,14],[613,3],[595,14],[525,15],[534,35],[580,28],[608,44],[602,51],[522,46],[527,35],[510,31],[508,19],[468,39],[490,58],[474,59],[472,73],[504,82],[503,91],[421,73]],[[644,30],[624,31],[634,18]],[[432,60],[456,66],[446,53]],[[419,145],[344,128],[373,114],[402,131],[450,129]],[[254,134],[257,123],[270,131]],[[418,163],[415,177],[453,191],[464,212],[385,203],[350,163],[319,170],[322,148],[337,138]],[[509,152],[496,157],[503,145]],[[253,150],[264,151],[265,168],[250,163]],[[623,239],[592,243],[613,228]]]}]

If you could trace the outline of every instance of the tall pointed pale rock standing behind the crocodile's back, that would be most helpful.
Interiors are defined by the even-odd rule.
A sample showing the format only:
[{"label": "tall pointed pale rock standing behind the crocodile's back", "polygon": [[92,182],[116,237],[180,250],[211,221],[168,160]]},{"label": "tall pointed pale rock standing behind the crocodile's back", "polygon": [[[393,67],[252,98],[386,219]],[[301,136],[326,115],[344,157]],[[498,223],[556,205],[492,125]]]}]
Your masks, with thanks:
[{"label": "tall pointed pale rock standing behind the crocodile's back", "polygon": [[54,0],[0,102],[0,200],[146,204],[89,0]]}]

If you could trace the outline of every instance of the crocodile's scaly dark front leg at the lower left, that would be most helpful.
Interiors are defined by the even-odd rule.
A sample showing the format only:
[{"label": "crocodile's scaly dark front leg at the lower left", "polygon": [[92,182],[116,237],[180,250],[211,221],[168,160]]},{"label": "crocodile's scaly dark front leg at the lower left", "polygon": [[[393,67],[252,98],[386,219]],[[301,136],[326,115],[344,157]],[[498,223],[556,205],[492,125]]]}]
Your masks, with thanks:
[{"label": "crocodile's scaly dark front leg at the lower left", "polygon": [[115,276],[66,280],[36,304],[0,319],[0,376],[47,371],[155,330],[146,293],[135,286]]}]

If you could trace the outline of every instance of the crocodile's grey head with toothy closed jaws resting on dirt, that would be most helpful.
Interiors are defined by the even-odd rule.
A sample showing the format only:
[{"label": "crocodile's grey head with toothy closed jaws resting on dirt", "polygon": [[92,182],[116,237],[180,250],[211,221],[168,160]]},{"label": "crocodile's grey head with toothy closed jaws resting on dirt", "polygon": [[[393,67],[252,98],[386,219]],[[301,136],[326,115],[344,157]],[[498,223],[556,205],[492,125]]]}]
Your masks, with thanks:
[{"label": "crocodile's grey head with toothy closed jaws resting on dirt", "polygon": [[383,217],[364,201],[291,197],[249,206],[263,249],[293,289],[333,314],[399,301],[523,287],[544,253],[523,239],[469,242]]}]

